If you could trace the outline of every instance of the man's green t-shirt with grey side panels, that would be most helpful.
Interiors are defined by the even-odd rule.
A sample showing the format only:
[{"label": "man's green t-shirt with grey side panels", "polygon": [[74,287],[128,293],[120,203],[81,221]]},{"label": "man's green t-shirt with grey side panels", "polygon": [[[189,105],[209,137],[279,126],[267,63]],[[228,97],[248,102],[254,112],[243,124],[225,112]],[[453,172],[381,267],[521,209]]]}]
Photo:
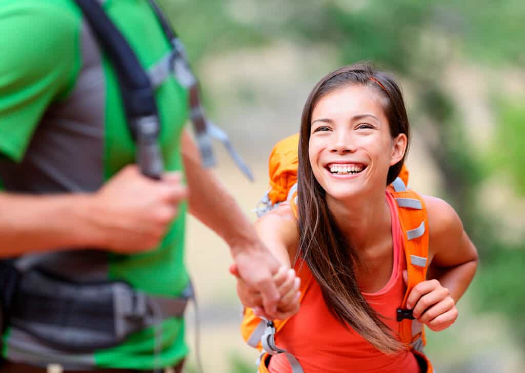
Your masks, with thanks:
[{"label": "man's green t-shirt with grey side panels", "polygon": [[[103,6],[144,68],[169,53],[169,40],[147,1],[107,0]],[[9,160],[0,162],[0,190],[92,191],[134,162],[135,146],[115,71],[90,38],[73,0],[0,0],[0,35],[0,158]],[[182,170],[180,136],[188,117],[187,92],[170,77],[156,89],[156,101],[165,168]],[[183,257],[185,210],[183,205],[157,250],[104,254],[103,265],[97,264],[102,268],[97,278],[121,279],[150,294],[180,295],[188,283]],[[90,251],[85,252],[89,261]],[[57,263],[83,255],[76,253],[77,259],[67,251],[50,253],[41,265],[67,271],[67,264]],[[161,345],[156,361],[162,366],[186,355],[182,319],[162,323]],[[64,360],[60,351],[48,347],[8,328],[3,356],[37,365],[53,358]],[[118,347],[88,357],[70,354],[67,361],[82,366],[91,359],[85,366],[152,369],[154,347],[149,328]]]}]

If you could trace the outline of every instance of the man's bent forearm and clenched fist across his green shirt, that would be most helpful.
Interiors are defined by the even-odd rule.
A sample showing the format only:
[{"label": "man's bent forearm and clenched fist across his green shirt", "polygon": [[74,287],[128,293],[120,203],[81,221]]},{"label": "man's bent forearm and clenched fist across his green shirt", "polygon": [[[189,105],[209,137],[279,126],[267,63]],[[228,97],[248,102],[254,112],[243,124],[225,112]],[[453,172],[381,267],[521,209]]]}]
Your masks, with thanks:
[{"label": "man's bent forearm and clenched fist across his green shirt", "polygon": [[60,248],[128,254],[152,250],[185,196],[177,173],[154,181],[135,165],[122,169],[96,193],[0,193],[0,257]]}]

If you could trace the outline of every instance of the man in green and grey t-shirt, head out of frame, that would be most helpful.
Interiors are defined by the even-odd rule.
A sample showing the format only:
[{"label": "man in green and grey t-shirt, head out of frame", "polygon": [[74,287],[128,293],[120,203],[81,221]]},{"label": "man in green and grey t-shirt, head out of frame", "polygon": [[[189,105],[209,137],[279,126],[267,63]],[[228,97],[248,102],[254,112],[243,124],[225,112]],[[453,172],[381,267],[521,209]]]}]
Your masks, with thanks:
[{"label": "man in green and grey t-shirt, head out of frame", "polygon": [[[143,67],[169,51],[148,2],[108,0],[103,6]],[[117,281],[178,297],[188,286],[183,245],[189,210],[228,243],[240,276],[262,293],[265,312],[274,315],[278,262],[232,196],[202,167],[183,129],[188,98],[179,82],[171,77],[156,90],[167,171],[154,181],[132,165],[134,143],[116,71],[73,0],[2,0],[0,35],[0,257],[16,258],[19,271],[51,283]],[[53,289],[43,294],[41,288],[37,282],[30,289],[35,299],[45,297],[56,307],[61,294],[53,301]],[[24,306],[17,312],[25,315],[41,304]],[[88,328],[95,328],[96,311],[81,320]],[[0,371],[41,372],[49,363],[66,371],[181,371],[187,353],[182,317],[88,351],[51,343],[52,336],[75,341],[75,330],[46,322],[8,323]]]}]

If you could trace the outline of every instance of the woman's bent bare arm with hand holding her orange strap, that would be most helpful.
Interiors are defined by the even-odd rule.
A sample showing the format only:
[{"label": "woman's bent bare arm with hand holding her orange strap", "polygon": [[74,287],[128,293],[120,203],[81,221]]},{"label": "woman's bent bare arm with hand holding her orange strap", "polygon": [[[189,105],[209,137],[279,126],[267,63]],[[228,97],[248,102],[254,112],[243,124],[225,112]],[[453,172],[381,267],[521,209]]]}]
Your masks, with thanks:
[{"label": "woman's bent bare arm with hand holding her orange strap", "polygon": [[443,330],[458,316],[456,303],[476,273],[476,247],[451,206],[425,196],[428,213],[429,248],[427,281],[417,284],[407,299],[407,308],[432,330]]}]

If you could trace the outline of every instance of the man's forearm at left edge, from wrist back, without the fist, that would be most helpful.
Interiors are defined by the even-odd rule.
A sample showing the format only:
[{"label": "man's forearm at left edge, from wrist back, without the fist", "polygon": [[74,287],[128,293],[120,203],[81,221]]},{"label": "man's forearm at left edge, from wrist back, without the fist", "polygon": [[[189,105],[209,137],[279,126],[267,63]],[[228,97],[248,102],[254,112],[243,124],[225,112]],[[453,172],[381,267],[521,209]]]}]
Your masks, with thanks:
[{"label": "man's forearm at left edge, from wrist back, without the fist", "polygon": [[0,257],[97,242],[85,194],[0,193]]}]

